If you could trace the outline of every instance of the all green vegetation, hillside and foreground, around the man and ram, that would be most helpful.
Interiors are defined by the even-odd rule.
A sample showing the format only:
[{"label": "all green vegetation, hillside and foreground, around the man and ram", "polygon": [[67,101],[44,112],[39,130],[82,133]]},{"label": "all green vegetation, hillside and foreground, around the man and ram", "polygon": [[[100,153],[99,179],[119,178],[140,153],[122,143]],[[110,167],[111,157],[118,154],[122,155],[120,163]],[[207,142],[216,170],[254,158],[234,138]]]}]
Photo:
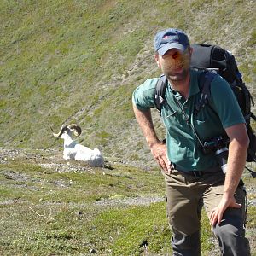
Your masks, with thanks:
[{"label": "all green vegetation, hillside and foreground, around the man and ram", "polygon": [[[191,43],[230,49],[255,95],[255,11],[249,0],[0,1],[0,254],[171,253],[163,180],[134,119],[132,91],[160,75],[154,33],[173,26]],[[72,122],[109,168],[61,160],[50,127]],[[255,182],[246,179],[253,201]],[[255,241],[254,205],[248,213]],[[205,214],[203,224],[210,255]]]}]

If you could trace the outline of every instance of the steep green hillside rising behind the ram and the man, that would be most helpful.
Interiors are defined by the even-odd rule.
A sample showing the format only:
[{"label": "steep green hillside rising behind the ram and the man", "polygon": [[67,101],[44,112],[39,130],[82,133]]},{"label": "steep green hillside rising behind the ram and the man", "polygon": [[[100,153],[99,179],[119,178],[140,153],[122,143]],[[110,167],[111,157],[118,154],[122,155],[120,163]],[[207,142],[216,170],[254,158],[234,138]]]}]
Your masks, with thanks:
[{"label": "steep green hillside rising behind the ram and the man", "polygon": [[150,164],[131,93],[160,74],[154,33],[179,27],[230,49],[253,90],[255,12],[248,0],[1,1],[0,147],[61,150],[50,126],[76,122],[108,159]]}]

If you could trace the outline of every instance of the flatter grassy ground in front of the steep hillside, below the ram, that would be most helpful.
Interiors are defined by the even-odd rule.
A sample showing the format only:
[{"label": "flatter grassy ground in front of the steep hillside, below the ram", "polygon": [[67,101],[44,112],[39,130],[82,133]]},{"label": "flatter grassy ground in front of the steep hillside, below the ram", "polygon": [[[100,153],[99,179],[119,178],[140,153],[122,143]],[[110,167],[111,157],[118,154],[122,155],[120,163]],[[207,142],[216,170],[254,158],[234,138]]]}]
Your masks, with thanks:
[{"label": "flatter grassy ground in front of the steep hillside, below the ram", "polygon": [[[158,169],[67,165],[59,153],[42,150],[5,155],[0,159],[1,255],[87,255],[90,250],[96,255],[171,255],[164,179]],[[248,189],[255,186],[251,177],[244,180]],[[251,241],[255,211],[248,207]],[[209,255],[213,238],[205,211],[201,223],[202,253]]]}]

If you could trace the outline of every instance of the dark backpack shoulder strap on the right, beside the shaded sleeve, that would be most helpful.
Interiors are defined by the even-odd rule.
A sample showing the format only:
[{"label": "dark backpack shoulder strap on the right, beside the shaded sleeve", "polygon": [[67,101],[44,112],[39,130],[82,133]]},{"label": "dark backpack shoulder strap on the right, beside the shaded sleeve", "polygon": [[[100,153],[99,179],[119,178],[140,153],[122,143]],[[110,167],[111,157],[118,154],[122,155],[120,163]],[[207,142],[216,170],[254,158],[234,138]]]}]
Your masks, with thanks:
[{"label": "dark backpack shoulder strap on the right, beside the shaded sleeve", "polygon": [[209,103],[211,96],[211,83],[215,76],[216,73],[208,70],[201,73],[199,78],[199,90],[201,91],[201,96],[199,101],[195,104],[195,114],[197,114],[201,108],[204,108]]}]

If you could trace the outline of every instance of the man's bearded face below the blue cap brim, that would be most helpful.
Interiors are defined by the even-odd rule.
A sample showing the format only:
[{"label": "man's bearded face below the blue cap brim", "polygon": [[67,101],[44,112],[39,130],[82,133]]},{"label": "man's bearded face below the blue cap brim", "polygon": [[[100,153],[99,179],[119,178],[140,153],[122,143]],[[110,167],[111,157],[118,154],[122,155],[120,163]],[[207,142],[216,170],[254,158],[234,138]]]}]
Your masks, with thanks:
[{"label": "man's bearded face below the blue cap brim", "polygon": [[168,79],[183,80],[189,73],[191,50],[184,52],[179,49],[170,49],[165,55],[155,55],[158,67]]}]

